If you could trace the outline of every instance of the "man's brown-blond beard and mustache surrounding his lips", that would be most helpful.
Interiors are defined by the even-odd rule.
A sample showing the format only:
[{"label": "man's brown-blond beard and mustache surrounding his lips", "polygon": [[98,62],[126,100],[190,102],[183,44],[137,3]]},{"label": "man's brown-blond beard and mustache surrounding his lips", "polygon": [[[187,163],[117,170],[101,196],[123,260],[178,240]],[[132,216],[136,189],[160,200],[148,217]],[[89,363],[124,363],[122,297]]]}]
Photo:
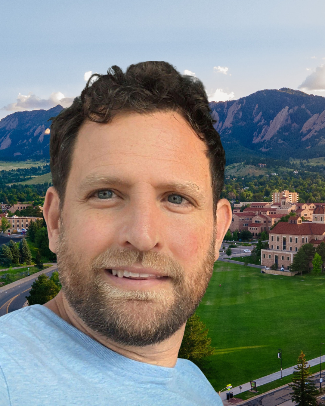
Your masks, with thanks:
[{"label": "man's brown-blond beard and mustache surrounding his lips", "polygon": [[[58,273],[72,310],[94,332],[127,346],[147,346],[168,339],[195,312],[212,276],[215,232],[204,260],[186,280],[182,267],[157,252],[108,250],[87,264],[68,246],[63,224],[58,242]],[[169,289],[135,291],[114,287],[103,269],[141,265],[162,270]]]}]

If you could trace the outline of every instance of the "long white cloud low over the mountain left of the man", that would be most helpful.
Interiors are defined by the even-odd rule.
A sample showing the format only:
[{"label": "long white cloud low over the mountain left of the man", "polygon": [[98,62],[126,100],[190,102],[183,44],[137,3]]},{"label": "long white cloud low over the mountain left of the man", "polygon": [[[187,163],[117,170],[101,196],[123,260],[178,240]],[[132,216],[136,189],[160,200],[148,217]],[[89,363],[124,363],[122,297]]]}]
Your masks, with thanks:
[{"label": "long white cloud low over the mountain left of the man", "polygon": [[61,92],[52,93],[48,99],[41,99],[40,97],[33,95],[32,92],[28,93],[28,95],[18,93],[17,102],[8,104],[7,106],[2,107],[1,110],[48,110],[49,108],[55,107],[58,104],[61,104],[61,106],[65,108],[71,106],[73,101],[74,97],[65,97]]}]

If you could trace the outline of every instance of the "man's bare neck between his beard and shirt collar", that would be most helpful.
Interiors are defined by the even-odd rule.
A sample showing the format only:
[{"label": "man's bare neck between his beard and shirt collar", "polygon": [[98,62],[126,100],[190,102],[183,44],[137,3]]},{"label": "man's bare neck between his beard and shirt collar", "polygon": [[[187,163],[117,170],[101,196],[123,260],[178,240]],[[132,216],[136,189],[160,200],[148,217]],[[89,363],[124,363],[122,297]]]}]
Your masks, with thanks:
[{"label": "man's bare neck between his beard and shirt collar", "polygon": [[185,324],[176,331],[175,334],[161,343],[145,347],[124,346],[95,333],[84,322],[82,322],[80,317],[78,317],[74,310],[69,306],[62,290],[54,299],[45,303],[43,306],[48,307],[48,309],[52,310],[67,323],[78,328],[82,333],[87,334],[103,346],[117,352],[118,354],[124,355],[127,358],[161,367],[172,368],[176,365],[178,351],[184,335]]}]

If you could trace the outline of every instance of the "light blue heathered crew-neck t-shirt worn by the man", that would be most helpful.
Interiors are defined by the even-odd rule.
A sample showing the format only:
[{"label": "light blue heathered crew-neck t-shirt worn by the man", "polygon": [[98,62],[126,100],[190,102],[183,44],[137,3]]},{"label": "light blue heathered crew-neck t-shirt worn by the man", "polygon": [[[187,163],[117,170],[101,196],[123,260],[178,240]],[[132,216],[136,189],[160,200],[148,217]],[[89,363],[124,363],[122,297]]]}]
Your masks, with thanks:
[{"label": "light blue heathered crew-neck t-shirt worn by the man", "polygon": [[39,304],[0,317],[0,405],[222,405],[200,369],[126,358]]}]

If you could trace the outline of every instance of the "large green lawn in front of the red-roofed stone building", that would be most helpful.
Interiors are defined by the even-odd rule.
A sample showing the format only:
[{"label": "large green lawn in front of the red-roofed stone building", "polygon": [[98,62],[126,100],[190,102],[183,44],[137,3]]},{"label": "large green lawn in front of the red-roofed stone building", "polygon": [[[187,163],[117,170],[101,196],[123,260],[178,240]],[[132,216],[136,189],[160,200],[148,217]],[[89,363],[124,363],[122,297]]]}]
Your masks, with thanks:
[{"label": "large green lawn in front of the red-roofed stone building", "polygon": [[[303,279],[303,281],[301,281]],[[219,287],[221,284],[221,287]],[[215,354],[206,372],[216,390],[238,386],[319,356],[325,339],[325,275],[281,276],[218,261],[197,309]]]}]

